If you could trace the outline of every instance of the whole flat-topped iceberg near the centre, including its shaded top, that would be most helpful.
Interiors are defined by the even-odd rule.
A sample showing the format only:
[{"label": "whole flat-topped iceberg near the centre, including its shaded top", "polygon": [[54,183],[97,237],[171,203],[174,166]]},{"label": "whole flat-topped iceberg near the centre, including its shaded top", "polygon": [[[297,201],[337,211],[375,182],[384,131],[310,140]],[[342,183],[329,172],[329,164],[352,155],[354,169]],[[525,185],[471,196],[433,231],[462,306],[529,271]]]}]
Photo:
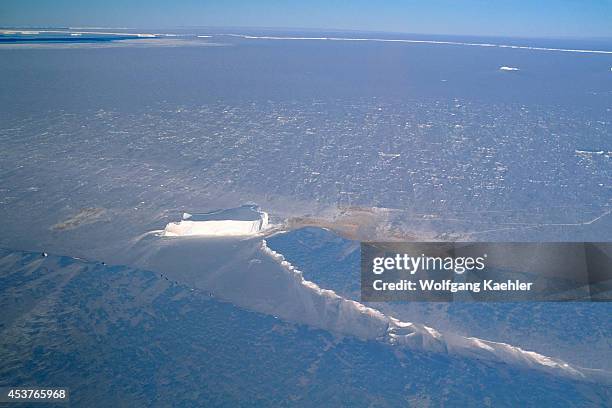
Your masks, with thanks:
[{"label": "whole flat-topped iceberg near the centre, including its shaded top", "polygon": [[257,235],[267,229],[268,213],[257,206],[245,205],[228,210],[203,214],[184,213],[179,222],[171,222],[164,228],[164,236],[240,237]]}]

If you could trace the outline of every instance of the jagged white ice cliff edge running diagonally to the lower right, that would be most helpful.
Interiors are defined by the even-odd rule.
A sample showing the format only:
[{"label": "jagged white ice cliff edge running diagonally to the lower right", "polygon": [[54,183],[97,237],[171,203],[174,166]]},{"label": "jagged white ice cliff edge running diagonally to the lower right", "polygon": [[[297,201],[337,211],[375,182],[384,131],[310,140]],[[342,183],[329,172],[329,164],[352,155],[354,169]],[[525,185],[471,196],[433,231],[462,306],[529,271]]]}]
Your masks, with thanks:
[{"label": "jagged white ice cliff edge running diagonally to the lower right", "polygon": [[[452,334],[444,335],[425,325],[401,322],[361,303],[344,299],[332,290],[321,289],[315,283],[305,280],[302,273],[287,262],[281,254],[269,248],[265,240],[262,241],[261,248],[264,253],[285,268],[289,274],[295,276],[296,281],[300,283],[304,291],[314,292],[323,298],[327,298],[326,301],[321,302],[323,305],[328,307],[334,305],[335,308],[342,310],[342,316],[340,316],[340,313],[335,316],[341,317],[341,319],[338,321],[340,324],[332,327],[333,331],[364,339],[380,339],[390,344],[415,350],[502,362],[578,379],[609,381],[608,373],[604,371],[574,367],[562,360],[526,351],[509,344]],[[303,296],[300,296],[299,299],[303,299]],[[319,312],[321,321],[313,325],[329,329],[331,322],[327,321],[330,317],[328,310],[320,310]],[[368,319],[372,320],[372,324],[364,324],[364,320]],[[294,317],[291,320],[296,319]],[[300,320],[299,317],[297,320]],[[360,325],[355,326],[353,322],[360,322]]]}]

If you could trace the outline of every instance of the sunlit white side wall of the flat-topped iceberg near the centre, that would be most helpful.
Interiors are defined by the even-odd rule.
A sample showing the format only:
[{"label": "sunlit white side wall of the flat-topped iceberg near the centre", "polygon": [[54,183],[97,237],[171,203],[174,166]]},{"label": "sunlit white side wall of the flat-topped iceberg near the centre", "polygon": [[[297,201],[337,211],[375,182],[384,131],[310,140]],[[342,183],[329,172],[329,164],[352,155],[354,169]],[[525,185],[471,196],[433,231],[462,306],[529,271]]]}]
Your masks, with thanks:
[{"label": "sunlit white side wall of the flat-topped iceberg near the centre", "polygon": [[192,221],[191,214],[183,214],[183,220],[171,222],[164,228],[164,236],[250,236],[268,227],[268,214],[259,211],[255,220],[207,220]]}]

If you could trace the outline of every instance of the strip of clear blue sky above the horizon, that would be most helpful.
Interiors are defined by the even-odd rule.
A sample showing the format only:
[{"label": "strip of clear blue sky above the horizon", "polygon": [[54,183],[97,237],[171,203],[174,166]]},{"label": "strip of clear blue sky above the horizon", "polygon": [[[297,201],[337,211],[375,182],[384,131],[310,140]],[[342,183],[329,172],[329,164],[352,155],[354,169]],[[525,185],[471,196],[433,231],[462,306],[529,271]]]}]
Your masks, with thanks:
[{"label": "strip of clear blue sky above the horizon", "polygon": [[0,25],[612,37],[612,0],[1,0]]}]

